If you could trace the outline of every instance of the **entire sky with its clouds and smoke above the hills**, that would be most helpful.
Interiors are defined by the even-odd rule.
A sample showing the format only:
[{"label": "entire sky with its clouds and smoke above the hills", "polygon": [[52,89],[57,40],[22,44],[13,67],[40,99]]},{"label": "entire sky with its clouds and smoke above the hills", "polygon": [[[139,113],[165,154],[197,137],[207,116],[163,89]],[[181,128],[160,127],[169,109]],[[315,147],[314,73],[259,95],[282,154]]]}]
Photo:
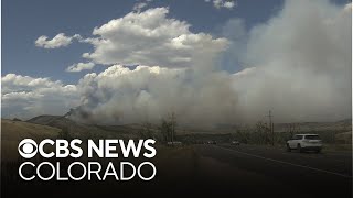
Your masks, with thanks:
[{"label": "entire sky with its clouds and smoke above the hills", "polygon": [[346,118],[350,2],[2,0],[2,114],[84,106],[122,123],[146,103],[158,119],[174,102],[195,122],[233,120],[231,106],[239,120],[268,109],[284,120]]}]

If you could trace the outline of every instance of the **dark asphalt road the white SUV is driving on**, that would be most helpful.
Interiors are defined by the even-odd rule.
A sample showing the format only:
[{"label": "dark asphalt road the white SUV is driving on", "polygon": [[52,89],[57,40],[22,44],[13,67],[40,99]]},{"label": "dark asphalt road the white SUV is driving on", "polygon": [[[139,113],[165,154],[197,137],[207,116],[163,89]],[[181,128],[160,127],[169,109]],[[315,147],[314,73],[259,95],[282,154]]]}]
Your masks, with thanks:
[{"label": "dark asphalt road the white SUV is driving on", "polygon": [[211,194],[352,197],[351,152],[298,153],[255,145],[195,145],[194,150],[201,157],[199,179]]}]

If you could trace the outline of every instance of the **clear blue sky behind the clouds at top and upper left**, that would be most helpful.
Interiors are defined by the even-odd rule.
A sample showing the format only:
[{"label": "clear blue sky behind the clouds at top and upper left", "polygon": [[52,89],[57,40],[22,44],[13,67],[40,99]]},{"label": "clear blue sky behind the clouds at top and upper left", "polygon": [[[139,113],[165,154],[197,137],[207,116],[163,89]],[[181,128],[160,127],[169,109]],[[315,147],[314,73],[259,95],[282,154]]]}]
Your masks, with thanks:
[{"label": "clear blue sky behind the clouds at top and upper left", "polygon": [[[73,43],[68,47],[45,50],[36,47],[34,41],[61,32],[90,36],[95,26],[131,12],[136,1],[3,0],[2,3],[2,76],[14,73],[76,82],[84,74],[67,74],[65,68],[83,61],[82,53],[92,51],[92,46]],[[252,28],[276,14],[281,6],[282,0],[239,0],[236,8],[228,10],[216,9],[204,0],[156,0],[148,8],[169,7],[169,16],[188,21],[192,32],[217,35],[218,28],[229,19],[245,19],[246,26]]]}]

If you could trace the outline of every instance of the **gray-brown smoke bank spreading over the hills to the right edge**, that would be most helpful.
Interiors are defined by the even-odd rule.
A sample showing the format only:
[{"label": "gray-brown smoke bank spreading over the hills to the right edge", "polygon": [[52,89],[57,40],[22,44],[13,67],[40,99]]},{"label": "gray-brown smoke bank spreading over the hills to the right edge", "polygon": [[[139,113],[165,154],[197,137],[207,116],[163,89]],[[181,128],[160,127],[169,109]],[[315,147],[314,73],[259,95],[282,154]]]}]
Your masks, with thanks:
[{"label": "gray-brown smoke bank spreading over the hills to the right edge", "polygon": [[281,122],[350,118],[351,12],[351,4],[288,0],[248,32],[242,20],[231,20],[223,29],[231,54],[225,58],[246,63],[235,74],[215,67],[216,55],[210,63],[190,62],[196,66],[114,65],[88,74],[77,86],[76,119],[158,122],[174,112],[182,124],[215,124],[263,120],[268,110]]}]

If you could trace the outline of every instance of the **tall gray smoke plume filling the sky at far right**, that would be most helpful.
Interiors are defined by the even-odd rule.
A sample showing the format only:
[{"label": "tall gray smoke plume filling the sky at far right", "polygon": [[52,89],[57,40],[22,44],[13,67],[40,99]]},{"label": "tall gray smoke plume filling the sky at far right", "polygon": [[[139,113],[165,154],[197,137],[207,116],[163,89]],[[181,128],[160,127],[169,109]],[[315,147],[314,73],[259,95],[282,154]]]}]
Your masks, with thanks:
[{"label": "tall gray smoke plume filling the sky at far right", "polygon": [[288,0],[278,15],[252,29],[240,58],[256,67],[234,78],[244,119],[269,109],[277,121],[350,118],[351,13],[352,4]]}]

